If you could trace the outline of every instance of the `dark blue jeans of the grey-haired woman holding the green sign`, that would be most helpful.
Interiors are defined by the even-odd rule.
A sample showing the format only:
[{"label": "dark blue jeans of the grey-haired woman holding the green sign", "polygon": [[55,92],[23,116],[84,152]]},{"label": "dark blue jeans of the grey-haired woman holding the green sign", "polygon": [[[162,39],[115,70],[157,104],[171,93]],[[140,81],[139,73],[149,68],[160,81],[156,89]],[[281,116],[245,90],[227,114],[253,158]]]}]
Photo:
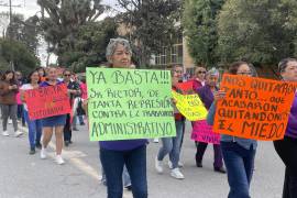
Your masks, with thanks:
[{"label": "dark blue jeans of the grey-haired woman holding the green sign", "polygon": [[146,145],[130,151],[100,147],[100,160],[106,172],[108,198],[122,198],[124,165],[131,178],[134,198],[147,198]]}]

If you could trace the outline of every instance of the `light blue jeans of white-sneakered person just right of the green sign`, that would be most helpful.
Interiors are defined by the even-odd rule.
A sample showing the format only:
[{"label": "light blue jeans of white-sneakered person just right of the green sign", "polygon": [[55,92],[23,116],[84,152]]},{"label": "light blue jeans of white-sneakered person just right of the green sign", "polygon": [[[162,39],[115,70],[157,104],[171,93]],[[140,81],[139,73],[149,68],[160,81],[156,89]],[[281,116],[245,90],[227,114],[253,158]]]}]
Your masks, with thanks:
[{"label": "light blue jeans of white-sneakered person just right of the green sign", "polygon": [[175,121],[176,136],[161,139],[162,147],[158,151],[157,160],[163,161],[163,158],[169,154],[173,168],[178,167],[184,124],[184,121]]}]

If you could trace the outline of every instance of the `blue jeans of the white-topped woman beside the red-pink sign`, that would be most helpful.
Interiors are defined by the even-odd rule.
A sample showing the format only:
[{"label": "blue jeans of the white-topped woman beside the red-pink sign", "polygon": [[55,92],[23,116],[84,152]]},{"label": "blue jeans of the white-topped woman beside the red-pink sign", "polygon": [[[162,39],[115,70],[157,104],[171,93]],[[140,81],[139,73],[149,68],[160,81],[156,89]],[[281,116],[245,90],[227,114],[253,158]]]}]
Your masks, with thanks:
[{"label": "blue jeans of the white-topped woman beside the red-pink sign", "polygon": [[24,118],[29,128],[30,147],[35,148],[35,142],[41,141],[42,135],[42,120],[30,120],[28,111],[24,110]]}]

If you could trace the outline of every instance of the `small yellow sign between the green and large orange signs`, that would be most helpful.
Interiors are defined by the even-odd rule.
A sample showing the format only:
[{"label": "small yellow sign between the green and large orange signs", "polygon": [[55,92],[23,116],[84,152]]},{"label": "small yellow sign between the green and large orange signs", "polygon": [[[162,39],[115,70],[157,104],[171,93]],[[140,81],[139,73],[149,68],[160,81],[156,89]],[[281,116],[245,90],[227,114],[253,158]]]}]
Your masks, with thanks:
[{"label": "small yellow sign between the green and large orange signs", "polygon": [[189,121],[204,120],[207,117],[207,109],[198,95],[180,95],[173,91],[176,100],[176,108]]}]

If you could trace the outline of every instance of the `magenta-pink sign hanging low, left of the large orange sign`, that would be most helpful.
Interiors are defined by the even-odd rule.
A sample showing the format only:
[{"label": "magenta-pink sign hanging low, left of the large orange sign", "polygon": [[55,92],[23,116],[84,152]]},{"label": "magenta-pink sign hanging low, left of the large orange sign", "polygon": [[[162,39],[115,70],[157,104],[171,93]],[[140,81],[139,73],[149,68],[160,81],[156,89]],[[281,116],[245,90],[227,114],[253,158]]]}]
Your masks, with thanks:
[{"label": "magenta-pink sign hanging low, left of the large orange sign", "polygon": [[208,125],[206,120],[194,122],[191,140],[212,144],[220,144],[220,134],[213,133],[212,125]]}]

